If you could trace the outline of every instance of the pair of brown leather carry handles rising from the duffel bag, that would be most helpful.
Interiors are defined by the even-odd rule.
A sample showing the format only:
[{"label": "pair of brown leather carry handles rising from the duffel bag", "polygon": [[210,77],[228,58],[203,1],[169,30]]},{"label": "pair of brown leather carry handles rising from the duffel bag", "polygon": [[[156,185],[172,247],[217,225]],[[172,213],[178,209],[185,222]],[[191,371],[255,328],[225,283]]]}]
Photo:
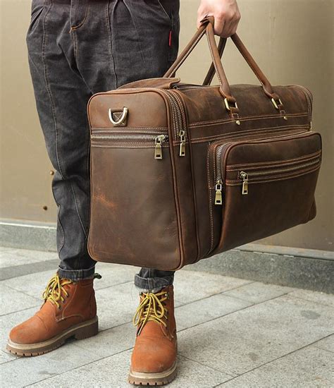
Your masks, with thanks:
[{"label": "pair of brown leather carry handles rising from the duffel bag", "polygon": [[[220,41],[219,42],[220,49],[218,49],[216,40],[214,37],[214,18],[213,17],[206,17],[202,20],[202,25],[199,27],[199,29],[192,37],[190,42],[187,44],[185,49],[175,60],[171,68],[168,69],[164,77],[166,78],[171,77],[171,75],[174,74],[175,71],[178,70],[178,68],[180,68],[180,66],[183,64],[185,59],[187,59],[191,51],[194,49],[194,47],[197,45],[199,40],[201,40],[204,35],[206,35],[208,40],[209,49],[212,57],[211,67],[214,66],[214,69],[218,76],[218,80],[220,83],[219,90],[221,92],[221,95],[224,97],[225,107],[230,111],[232,115],[237,114],[239,110],[237,108],[236,100],[233,97],[233,95],[231,95],[230,85],[228,84],[228,80],[226,78],[223,65],[221,63],[221,54],[223,52],[223,50],[221,50],[221,47],[224,48],[225,44],[224,42]],[[280,111],[283,111],[283,104],[280,101],[280,97],[278,97],[278,95],[275,92],[273,92],[271,83],[268,81],[268,78],[266,78],[266,75],[264,75],[264,73],[261,71],[256,61],[254,61],[254,58],[245,47],[245,44],[242,43],[242,41],[240,40],[240,37],[238,37],[238,35],[235,34],[231,36],[231,39],[233,40],[233,43],[235,44],[237,49],[244,57],[245,61],[247,61],[249,67],[252,69],[256,77],[259,79],[264,92],[269,98],[271,98],[271,101],[273,102],[274,107],[276,107],[276,109]],[[207,85],[206,82],[210,82],[212,77],[213,77],[213,73],[211,73],[211,68],[210,68],[209,73],[208,75],[206,75],[206,78],[204,80],[204,85]]]}]

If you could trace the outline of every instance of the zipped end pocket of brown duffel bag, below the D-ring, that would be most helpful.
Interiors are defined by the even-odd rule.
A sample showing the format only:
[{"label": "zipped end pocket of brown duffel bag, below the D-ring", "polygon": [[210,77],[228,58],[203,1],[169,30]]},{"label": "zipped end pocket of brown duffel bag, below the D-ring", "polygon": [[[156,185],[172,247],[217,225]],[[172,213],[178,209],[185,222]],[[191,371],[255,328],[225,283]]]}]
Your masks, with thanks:
[{"label": "zipped end pocket of brown duffel bag, below the D-ring", "polygon": [[92,131],[89,254],[102,262],[175,269],[180,243],[168,133],[127,129]]}]

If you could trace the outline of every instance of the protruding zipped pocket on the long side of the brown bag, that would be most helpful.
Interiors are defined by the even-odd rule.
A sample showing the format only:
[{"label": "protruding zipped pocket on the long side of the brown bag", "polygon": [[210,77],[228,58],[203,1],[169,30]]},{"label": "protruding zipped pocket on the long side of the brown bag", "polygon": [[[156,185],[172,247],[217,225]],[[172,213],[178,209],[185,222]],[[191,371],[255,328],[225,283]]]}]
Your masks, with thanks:
[{"label": "protruding zipped pocket on the long side of the brown bag", "polygon": [[225,143],[215,145],[211,154],[214,253],[315,217],[314,192],[321,166],[318,133]]}]

